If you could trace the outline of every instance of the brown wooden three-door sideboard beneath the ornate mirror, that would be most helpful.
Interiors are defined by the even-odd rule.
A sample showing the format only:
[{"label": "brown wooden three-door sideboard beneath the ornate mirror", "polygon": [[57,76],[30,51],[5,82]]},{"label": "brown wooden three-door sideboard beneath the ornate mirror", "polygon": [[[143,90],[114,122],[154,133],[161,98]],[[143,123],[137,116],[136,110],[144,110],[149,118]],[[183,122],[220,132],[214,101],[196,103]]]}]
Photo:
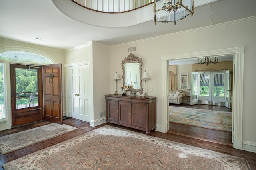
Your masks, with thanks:
[{"label": "brown wooden three-door sideboard beneath the ornate mirror", "polygon": [[105,95],[106,123],[146,131],[156,130],[156,97]]}]

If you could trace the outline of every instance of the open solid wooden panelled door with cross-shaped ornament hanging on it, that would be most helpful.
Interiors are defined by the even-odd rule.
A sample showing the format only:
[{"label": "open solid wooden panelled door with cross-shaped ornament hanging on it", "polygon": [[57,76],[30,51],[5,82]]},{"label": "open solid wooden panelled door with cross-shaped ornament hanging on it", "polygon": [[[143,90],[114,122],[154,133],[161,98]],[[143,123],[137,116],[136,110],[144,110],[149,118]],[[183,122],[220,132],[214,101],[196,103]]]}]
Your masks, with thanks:
[{"label": "open solid wooden panelled door with cross-shaped ornament hanging on it", "polygon": [[62,64],[43,66],[44,119],[63,124]]}]

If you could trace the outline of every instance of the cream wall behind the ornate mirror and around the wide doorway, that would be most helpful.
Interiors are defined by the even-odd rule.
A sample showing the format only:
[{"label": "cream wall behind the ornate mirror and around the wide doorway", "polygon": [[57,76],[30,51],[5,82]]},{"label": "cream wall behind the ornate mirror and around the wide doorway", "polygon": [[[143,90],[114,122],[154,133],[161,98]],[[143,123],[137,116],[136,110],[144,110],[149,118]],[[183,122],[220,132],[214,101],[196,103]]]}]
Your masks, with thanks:
[{"label": "cream wall behind the ornate mirror and around the wide doorway", "polygon": [[[166,25],[170,26],[172,25]],[[147,82],[152,92],[149,96],[157,97],[157,125],[161,122],[161,56],[210,51],[245,46],[244,57],[244,106],[243,106],[243,141],[250,144],[256,152],[256,18],[233,21],[226,24],[184,31],[171,35],[154,37],[130,43],[112,46],[110,49],[110,73],[122,72],[121,60],[128,56],[128,48],[136,46],[136,55],[143,60],[142,71],[147,70],[151,80]],[[170,41],[172,39],[172,41]],[[172,49],[170,49],[172,47]],[[115,90],[114,81],[110,82],[111,91]],[[144,88],[144,84],[143,84]],[[121,89],[118,89],[121,92]],[[244,148],[245,149],[245,148]],[[246,149],[245,149],[246,150]]]}]

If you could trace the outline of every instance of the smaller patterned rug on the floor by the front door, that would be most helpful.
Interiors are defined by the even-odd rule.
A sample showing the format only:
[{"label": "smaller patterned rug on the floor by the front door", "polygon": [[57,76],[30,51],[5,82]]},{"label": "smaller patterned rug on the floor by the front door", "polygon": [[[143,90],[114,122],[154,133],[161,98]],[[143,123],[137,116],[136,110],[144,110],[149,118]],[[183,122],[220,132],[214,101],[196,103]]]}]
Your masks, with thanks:
[{"label": "smaller patterned rug on the floor by the front door", "polygon": [[2,136],[0,137],[0,152],[1,154],[7,154],[76,129],[76,127],[69,125],[51,123],[26,131]]}]

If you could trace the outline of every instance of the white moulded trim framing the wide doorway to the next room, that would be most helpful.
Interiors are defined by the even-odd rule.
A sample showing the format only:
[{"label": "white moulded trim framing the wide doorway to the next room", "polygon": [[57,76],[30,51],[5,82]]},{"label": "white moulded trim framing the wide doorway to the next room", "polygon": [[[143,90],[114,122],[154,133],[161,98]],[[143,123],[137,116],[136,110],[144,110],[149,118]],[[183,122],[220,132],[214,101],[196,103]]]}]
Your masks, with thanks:
[{"label": "white moulded trim framing the wide doorway to the next room", "polygon": [[[244,46],[235,47],[229,49],[217,49],[211,51],[201,51],[195,53],[185,53],[178,55],[164,55],[162,59],[162,127],[161,132],[166,133],[168,130],[168,71],[166,66],[168,61],[177,59],[190,59],[198,57],[209,57],[217,55],[234,55],[234,91],[233,91],[233,103],[232,109],[234,115],[234,121],[232,123],[232,130],[234,134],[233,146],[236,149],[242,150],[242,128],[243,128],[243,93],[241,90],[244,87]],[[237,99],[237,100],[236,100]]]}]

